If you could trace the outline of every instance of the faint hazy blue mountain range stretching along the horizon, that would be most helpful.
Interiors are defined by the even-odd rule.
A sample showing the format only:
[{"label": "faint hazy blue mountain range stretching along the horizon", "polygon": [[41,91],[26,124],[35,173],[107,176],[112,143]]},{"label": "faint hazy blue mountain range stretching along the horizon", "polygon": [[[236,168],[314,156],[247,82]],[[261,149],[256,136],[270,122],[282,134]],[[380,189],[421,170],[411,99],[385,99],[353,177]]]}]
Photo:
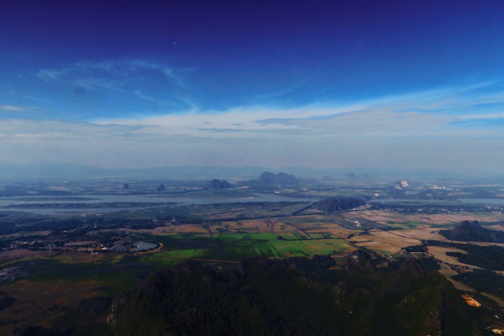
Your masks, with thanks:
[{"label": "faint hazy blue mountain range stretching along the horizon", "polygon": [[[298,178],[325,177],[326,180],[334,178],[336,180],[346,180],[347,176],[355,177],[362,182],[372,180],[393,180],[398,178],[416,178],[424,180],[460,180],[464,176],[453,172],[430,171],[408,171],[404,169],[385,169],[374,167],[361,168],[309,168],[309,167],[217,167],[217,166],[172,166],[172,167],[152,167],[152,168],[97,168],[89,165],[75,163],[55,163],[55,162],[34,162],[27,164],[14,164],[0,161],[0,179],[54,179],[54,180],[75,180],[86,178],[164,178],[164,179],[230,179],[230,178],[257,178],[263,172],[288,172]],[[280,179],[290,177],[280,177]],[[263,180],[267,180],[264,176]],[[259,179],[259,181],[262,179]],[[478,181],[493,181],[489,177],[477,178]],[[291,180],[292,182],[293,180]],[[475,181],[475,178],[472,178]],[[292,184],[291,182],[287,184]],[[295,183],[294,183],[295,184]]]}]

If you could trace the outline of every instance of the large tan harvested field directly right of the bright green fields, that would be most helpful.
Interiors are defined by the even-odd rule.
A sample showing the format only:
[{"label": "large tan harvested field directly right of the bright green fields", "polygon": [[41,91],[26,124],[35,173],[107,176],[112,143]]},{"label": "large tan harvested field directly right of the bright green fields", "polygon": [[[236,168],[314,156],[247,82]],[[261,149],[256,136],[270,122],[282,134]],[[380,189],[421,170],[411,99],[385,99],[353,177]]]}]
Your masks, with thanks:
[{"label": "large tan harvested field directly right of the bright green fields", "polygon": [[421,244],[418,239],[398,236],[389,231],[372,231],[369,234],[353,236],[347,241],[382,254],[402,253],[402,248],[406,246]]}]

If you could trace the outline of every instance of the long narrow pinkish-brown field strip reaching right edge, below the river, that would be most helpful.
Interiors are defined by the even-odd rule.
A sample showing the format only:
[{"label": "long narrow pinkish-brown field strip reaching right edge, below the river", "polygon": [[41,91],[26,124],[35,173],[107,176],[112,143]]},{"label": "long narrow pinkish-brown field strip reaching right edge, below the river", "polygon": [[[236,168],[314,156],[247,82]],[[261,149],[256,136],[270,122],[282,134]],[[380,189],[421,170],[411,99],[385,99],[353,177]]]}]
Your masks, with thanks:
[{"label": "long narrow pinkish-brown field strip reaching right edge, below the river", "polygon": [[363,218],[380,224],[388,222],[395,223],[419,223],[419,224],[454,224],[462,221],[478,220],[480,222],[499,222],[504,221],[504,214],[500,212],[492,213],[452,213],[452,214],[433,214],[433,215],[402,215],[393,211],[386,210],[364,210],[345,213],[345,217]]}]

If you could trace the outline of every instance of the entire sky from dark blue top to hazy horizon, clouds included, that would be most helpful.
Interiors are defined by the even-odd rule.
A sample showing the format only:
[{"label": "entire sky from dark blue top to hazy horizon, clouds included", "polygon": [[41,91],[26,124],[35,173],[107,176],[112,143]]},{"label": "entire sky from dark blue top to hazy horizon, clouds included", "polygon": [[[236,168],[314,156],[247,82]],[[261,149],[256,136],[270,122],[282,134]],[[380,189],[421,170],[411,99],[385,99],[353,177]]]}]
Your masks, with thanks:
[{"label": "entire sky from dark blue top to hazy horizon, clouds included", "polygon": [[494,174],[503,16],[500,1],[5,1],[0,155]]}]

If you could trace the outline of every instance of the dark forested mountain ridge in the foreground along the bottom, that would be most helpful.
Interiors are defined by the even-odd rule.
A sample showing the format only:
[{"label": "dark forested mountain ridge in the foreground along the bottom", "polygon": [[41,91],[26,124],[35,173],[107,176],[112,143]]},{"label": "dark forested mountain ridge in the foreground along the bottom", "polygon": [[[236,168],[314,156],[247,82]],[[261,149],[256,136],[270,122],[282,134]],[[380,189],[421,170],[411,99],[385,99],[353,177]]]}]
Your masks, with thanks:
[{"label": "dark forested mountain ridge in the foreground along the bottom", "polygon": [[[196,261],[154,272],[136,290],[84,300],[56,335],[479,334],[453,285],[418,260],[377,270],[363,251],[253,257],[216,272]],[[25,331],[27,331],[25,329]],[[28,334],[20,331],[19,334]],[[38,333],[42,334],[42,333]]]}]

